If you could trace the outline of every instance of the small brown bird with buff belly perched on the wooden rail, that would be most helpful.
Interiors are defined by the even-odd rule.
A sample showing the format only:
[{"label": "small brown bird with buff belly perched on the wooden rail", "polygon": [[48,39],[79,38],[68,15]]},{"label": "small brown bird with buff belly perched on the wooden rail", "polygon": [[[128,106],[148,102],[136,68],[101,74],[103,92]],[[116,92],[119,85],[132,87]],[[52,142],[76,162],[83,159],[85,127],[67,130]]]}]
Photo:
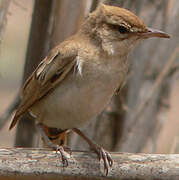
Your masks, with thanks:
[{"label": "small brown bird with buff belly perched on the wooden rail", "polygon": [[[66,165],[65,137],[73,131],[103,160],[108,175],[113,165],[110,153],[80,129],[120,92],[133,47],[152,37],[170,38],[147,27],[131,11],[101,3],[79,31],[53,48],[26,80],[9,129],[29,112],[44,142],[60,152]],[[54,139],[60,143],[54,143]]]}]

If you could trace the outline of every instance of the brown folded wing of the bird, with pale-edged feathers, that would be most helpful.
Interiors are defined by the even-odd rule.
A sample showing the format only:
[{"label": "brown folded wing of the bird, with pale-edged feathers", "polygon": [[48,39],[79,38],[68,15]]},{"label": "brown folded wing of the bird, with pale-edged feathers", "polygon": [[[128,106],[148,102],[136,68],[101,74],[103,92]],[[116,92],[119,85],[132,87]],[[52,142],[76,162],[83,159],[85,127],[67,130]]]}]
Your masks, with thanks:
[{"label": "brown folded wing of the bird, with pale-edged feathers", "polygon": [[53,49],[27,79],[22,97],[9,129],[12,129],[28,109],[59,84],[75,65],[76,52],[64,53],[61,48]]}]

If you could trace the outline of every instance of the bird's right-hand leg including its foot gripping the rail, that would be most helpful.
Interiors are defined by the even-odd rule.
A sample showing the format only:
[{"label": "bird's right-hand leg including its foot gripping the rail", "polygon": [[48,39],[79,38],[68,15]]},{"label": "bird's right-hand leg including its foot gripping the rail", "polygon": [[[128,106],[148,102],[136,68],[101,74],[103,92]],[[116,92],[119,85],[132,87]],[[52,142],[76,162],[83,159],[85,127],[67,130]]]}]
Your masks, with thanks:
[{"label": "bird's right-hand leg including its foot gripping the rail", "polygon": [[98,144],[92,142],[92,140],[90,140],[88,137],[86,137],[79,129],[73,128],[72,130],[75,133],[77,133],[79,136],[81,136],[89,144],[89,146],[92,148],[92,150],[94,150],[96,152],[96,154],[98,155],[99,160],[103,159],[104,170],[105,170],[106,175],[108,175],[108,173],[110,171],[110,167],[112,167],[112,165],[113,165],[113,160],[112,160],[109,152],[105,151]]}]

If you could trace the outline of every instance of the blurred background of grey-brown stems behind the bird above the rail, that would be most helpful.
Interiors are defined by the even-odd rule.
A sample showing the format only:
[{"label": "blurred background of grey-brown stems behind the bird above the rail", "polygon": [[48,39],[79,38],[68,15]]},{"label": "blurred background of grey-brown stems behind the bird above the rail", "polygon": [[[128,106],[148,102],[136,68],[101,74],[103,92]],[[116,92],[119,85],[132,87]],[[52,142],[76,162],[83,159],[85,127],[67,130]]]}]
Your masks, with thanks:
[{"label": "blurred background of grey-brown stems behind the bird above the rail", "polygon": [[[22,83],[51,48],[79,29],[99,2],[130,9],[172,38],[147,40],[131,53],[126,86],[84,132],[110,151],[179,153],[177,0],[1,0],[1,148],[38,146],[29,115],[8,131]],[[73,149],[87,149],[73,134],[68,143]]]}]

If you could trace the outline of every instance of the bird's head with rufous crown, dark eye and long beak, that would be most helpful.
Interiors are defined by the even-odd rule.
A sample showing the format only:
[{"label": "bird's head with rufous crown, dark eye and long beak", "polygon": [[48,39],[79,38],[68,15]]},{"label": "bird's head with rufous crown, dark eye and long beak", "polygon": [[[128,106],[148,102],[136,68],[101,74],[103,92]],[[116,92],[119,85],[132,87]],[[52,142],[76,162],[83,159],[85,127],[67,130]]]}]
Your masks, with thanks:
[{"label": "bird's head with rufous crown, dark eye and long beak", "polygon": [[101,43],[109,55],[128,54],[140,40],[170,36],[162,31],[148,28],[132,12],[114,6],[100,4],[84,23],[84,27],[94,39]]}]

